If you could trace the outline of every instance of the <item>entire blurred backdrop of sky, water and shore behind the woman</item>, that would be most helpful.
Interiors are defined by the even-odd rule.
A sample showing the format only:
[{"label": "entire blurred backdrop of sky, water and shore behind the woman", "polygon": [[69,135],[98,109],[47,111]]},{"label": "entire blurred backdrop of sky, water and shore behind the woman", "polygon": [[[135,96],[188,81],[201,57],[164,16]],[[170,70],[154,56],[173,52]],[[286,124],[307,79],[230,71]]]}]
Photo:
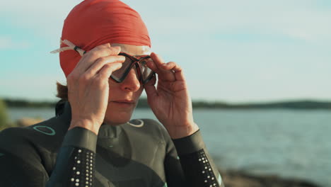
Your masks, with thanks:
[{"label": "entire blurred backdrop of sky, water and shore behind the woman", "polygon": [[[54,116],[50,51],[79,2],[0,2],[0,130]],[[227,186],[331,186],[331,1],[124,2],[184,69]],[[145,97],[133,118],[155,118]]]}]

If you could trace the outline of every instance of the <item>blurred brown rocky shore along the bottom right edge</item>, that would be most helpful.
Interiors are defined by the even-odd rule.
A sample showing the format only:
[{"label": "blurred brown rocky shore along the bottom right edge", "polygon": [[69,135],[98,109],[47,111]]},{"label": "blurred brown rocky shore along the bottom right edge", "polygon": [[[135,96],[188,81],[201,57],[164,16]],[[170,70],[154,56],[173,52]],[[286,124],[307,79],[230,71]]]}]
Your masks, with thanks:
[{"label": "blurred brown rocky shore along the bottom right edge", "polygon": [[226,187],[322,187],[301,179],[255,176],[243,171],[221,171],[221,175]]}]

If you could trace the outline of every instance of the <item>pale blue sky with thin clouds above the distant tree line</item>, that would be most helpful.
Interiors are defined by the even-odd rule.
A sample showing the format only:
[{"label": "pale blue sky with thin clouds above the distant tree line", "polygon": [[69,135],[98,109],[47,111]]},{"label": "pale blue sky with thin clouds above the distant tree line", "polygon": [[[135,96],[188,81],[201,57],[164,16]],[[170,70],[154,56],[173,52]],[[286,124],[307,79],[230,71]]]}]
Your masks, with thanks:
[{"label": "pale blue sky with thin clouds above the distant tree line", "polygon": [[[0,1],[0,97],[56,100],[63,21],[81,1]],[[193,100],[331,100],[330,0],[129,1]]]}]

